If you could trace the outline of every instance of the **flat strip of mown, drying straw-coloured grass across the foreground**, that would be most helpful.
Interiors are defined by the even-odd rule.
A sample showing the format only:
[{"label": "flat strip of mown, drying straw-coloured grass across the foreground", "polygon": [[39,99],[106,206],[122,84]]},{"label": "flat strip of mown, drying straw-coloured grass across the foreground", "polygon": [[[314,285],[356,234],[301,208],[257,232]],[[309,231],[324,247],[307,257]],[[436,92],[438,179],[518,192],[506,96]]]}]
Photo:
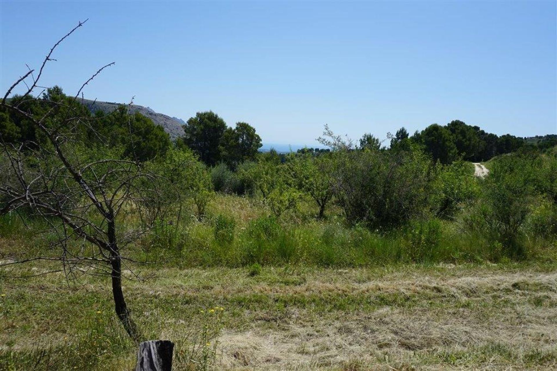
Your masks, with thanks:
[{"label": "flat strip of mown, drying straw-coloured grass across the foreground", "polygon": [[[199,329],[213,328],[217,316],[222,325],[218,339],[207,339],[217,341],[208,368],[557,367],[553,263],[143,274],[151,278],[126,282],[125,294],[146,333],[177,342],[178,370],[196,368],[188,357]],[[133,368],[134,346],[114,320],[104,280],[74,285],[53,274],[4,279],[1,287],[2,368],[24,369],[41,350],[41,362],[50,358],[58,369]],[[62,359],[70,355],[62,348],[74,349],[71,360]]]}]

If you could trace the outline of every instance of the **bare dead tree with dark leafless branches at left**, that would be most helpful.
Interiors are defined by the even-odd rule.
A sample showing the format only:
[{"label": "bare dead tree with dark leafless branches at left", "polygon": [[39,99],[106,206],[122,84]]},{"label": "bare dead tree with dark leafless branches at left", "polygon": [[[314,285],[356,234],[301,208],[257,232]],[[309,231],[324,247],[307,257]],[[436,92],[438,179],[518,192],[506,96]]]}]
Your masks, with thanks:
[{"label": "bare dead tree with dark leafless branches at left", "polygon": [[[40,216],[51,234],[57,236],[56,253],[27,256],[2,266],[29,261],[57,261],[67,277],[83,274],[108,275],[111,278],[116,315],[134,340],[140,331],[130,315],[122,291],[123,270],[134,275],[130,264],[135,261],[123,255],[126,246],[148,233],[155,219],[171,219],[167,207],[165,179],[145,170],[141,163],[100,153],[84,145],[84,131],[95,131],[95,118],[83,114],[77,97],[84,87],[108,64],[85,82],[73,99],[55,100],[48,96],[33,97],[40,89],[39,80],[56,47],[85,22],[80,22],[51,48],[38,74],[29,70],[9,87],[0,108],[19,115],[31,123],[37,139],[31,142],[7,143],[1,138],[3,168],[0,180],[0,214],[26,209]],[[26,79],[31,79],[27,84]],[[19,84],[27,86],[17,100],[8,99]],[[25,102],[40,106],[27,109]],[[82,139],[82,138],[81,138]],[[100,146],[102,148],[102,146]],[[177,193],[178,194],[178,193]],[[149,212],[145,212],[148,209]],[[175,211],[175,209],[172,209]],[[130,214],[140,213],[141,223],[126,222]]]}]

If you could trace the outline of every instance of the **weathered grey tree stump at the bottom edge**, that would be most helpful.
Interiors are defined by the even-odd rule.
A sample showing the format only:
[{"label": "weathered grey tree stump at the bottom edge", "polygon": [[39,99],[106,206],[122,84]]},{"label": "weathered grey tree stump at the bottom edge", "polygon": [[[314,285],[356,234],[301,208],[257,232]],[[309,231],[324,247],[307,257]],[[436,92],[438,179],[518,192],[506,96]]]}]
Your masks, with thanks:
[{"label": "weathered grey tree stump at the bottom edge", "polygon": [[139,344],[135,371],[171,371],[174,343],[170,340],[149,340]]}]

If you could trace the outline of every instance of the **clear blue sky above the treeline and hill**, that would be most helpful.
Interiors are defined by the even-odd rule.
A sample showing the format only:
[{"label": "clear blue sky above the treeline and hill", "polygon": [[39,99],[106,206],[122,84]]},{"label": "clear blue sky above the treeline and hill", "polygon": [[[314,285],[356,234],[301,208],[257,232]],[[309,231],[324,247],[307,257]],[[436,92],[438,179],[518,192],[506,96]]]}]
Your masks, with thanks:
[{"label": "clear blue sky above the treeline and hill", "polygon": [[187,120],[213,110],[263,141],[314,145],[323,124],[385,138],[460,119],[557,132],[556,2],[0,1],[0,91],[79,20],[44,85]]}]

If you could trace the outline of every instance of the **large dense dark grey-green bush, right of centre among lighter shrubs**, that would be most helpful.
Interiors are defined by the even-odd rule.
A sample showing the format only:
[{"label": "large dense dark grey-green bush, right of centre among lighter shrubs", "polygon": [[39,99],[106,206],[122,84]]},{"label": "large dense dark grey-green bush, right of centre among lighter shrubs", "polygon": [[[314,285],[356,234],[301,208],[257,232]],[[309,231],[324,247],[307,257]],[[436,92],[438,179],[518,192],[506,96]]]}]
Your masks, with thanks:
[{"label": "large dense dark grey-green bush, right of centre among lighter shrubs", "polygon": [[428,211],[436,167],[420,150],[335,155],[334,191],[348,222],[392,228]]}]

